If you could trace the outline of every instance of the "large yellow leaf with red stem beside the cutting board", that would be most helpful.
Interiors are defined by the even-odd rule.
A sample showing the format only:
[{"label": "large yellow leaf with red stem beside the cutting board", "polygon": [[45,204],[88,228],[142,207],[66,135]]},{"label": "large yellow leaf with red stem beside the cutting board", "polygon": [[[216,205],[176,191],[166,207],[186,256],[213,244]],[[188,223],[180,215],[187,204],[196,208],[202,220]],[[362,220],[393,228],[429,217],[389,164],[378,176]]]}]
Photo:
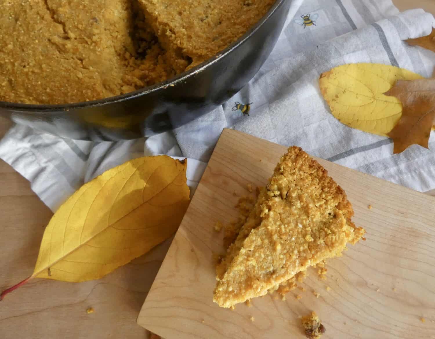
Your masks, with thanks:
[{"label": "large yellow leaf with red stem beside the cutting board", "polygon": [[54,214],[31,278],[98,279],[169,238],[189,204],[186,161],[128,161],[83,185]]}]

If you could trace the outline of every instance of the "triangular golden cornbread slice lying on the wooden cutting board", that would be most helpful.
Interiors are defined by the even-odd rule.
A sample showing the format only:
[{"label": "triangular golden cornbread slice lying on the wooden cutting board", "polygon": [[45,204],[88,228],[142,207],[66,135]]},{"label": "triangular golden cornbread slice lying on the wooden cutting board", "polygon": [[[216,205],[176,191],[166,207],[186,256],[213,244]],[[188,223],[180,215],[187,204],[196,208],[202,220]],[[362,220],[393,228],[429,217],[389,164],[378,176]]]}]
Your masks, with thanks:
[{"label": "triangular golden cornbread slice lying on the wooden cutting board", "polygon": [[214,302],[232,307],[341,255],[364,234],[345,192],[317,161],[291,147],[217,268]]}]

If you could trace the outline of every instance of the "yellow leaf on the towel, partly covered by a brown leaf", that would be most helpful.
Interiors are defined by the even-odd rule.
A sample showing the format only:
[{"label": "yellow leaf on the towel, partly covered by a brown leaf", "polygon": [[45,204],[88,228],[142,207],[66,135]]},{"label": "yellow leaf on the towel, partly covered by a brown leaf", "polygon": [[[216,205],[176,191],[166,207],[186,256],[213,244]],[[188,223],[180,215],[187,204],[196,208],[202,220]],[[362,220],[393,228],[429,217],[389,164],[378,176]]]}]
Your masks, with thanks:
[{"label": "yellow leaf on the towel, partly covered by a brown leaf", "polygon": [[422,76],[382,64],[347,64],[320,77],[320,89],[332,115],[343,124],[368,133],[387,135],[402,117],[402,103],[384,95],[397,80]]}]

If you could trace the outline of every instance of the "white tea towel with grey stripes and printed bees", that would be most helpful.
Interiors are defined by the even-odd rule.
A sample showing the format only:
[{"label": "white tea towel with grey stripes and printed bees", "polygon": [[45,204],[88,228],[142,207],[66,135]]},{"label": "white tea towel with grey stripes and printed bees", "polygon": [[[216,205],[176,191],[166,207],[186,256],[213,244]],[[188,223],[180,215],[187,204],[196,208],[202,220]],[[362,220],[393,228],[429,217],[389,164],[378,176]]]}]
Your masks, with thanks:
[{"label": "white tea towel with grey stripes and printed bees", "polygon": [[[308,26],[301,20],[307,15],[313,21]],[[0,142],[0,158],[55,210],[84,182],[143,155],[187,157],[194,187],[219,134],[229,127],[427,191],[435,188],[434,152],[412,146],[392,155],[390,139],[339,123],[321,97],[318,78],[332,67],[356,62],[392,64],[428,77],[435,54],[402,40],[429,34],[433,21],[422,10],[398,13],[390,0],[294,0],[264,66],[218,109],[147,140],[73,141],[16,125]],[[253,103],[249,117],[233,111],[235,101]],[[429,147],[435,149],[433,135]]]}]

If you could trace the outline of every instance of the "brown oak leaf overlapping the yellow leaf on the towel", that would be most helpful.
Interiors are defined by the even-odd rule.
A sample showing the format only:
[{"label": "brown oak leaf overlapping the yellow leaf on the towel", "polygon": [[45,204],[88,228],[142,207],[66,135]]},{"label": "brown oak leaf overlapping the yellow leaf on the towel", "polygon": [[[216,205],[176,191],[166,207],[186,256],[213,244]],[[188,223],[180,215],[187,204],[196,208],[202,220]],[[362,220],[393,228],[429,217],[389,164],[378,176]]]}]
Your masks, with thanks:
[{"label": "brown oak leaf overlapping the yellow leaf on the towel", "polygon": [[388,133],[394,141],[394,153],[418,144],[428,148],[432,126],[435,124],[435,79],[398,80],[385,93],[403,104],[402,118]]}]

